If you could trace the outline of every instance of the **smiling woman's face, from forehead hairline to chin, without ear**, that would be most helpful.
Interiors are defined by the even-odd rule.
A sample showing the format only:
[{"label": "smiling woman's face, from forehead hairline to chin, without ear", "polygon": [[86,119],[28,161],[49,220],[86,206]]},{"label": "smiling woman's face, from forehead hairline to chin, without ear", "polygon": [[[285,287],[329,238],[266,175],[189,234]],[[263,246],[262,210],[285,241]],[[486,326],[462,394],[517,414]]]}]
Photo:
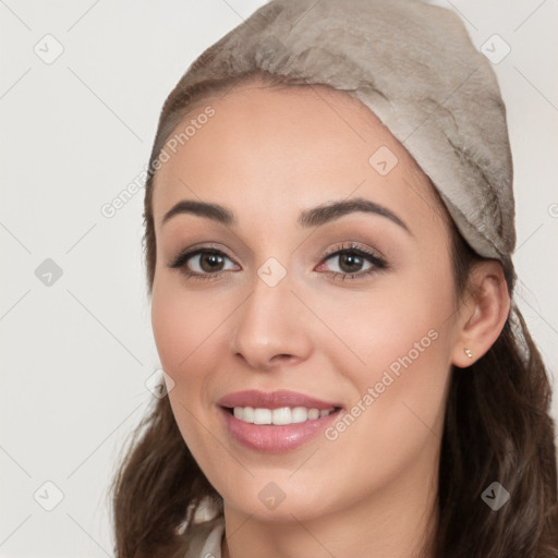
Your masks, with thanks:
[{"label": "smiling woman's face, from forehead hairline to chin, without ear", "polygon": [[[209,482],[231,508],[289,521],[434,482],[457,303],[426,177],[366,107],[325,86],[244,84],[177,133],[189,124],[155,180],[151,319]],[[192,205],[165,220],[183,201],[233,220]],[[336,203],[353,205],[319,209]],[[299,399],[230,398],[246,390]]]}]

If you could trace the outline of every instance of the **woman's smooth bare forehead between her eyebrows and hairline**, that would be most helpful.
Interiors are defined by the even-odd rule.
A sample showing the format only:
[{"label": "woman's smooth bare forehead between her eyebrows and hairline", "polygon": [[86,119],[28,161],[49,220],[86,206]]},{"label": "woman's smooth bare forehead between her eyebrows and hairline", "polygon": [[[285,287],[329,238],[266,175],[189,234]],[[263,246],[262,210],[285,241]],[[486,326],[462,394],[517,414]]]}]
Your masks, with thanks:
[{"label": "woman's smooth bare forehead between her eyebrows and hairline", "polygon": [[220,203],[246,219],[262,208],[298,215],[353,194],[417,217],[444,211],[378,118],[327,86],[238,85],[197,102],[169,137],[154,180],[156,229],[184,198]]}]

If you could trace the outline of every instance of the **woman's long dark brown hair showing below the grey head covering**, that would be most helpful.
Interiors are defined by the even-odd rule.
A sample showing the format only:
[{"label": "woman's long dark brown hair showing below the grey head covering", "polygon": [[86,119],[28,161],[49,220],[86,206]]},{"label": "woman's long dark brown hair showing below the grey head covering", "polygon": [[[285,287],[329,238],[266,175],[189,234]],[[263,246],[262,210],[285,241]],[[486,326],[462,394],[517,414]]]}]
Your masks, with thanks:
[{"label": "woman's long dark brown hair showing below the grey head covering", "polygon": [[[256,71],[206,81],[194,90],[185,90],[179,83],[163,106],[145,191],[144,250],[149,294],[156,262],[154,162],[192,107],[256,75],[269,87],[300,85]],[[458,296],[465,292],[469,272],[480,259],[452,225]],[[504,272],[511,295],[514,271],[505,268]],[[440,452],[436,558],[558,557],[550,398],[543,360],[513,305],[488,352],[466,371],[451,371]],[[482,499],[494,482],[511,495],[498,511]],[[186,447],[168,397],[154,398],[149,412],[132,433],[110,490],[117,558],[184,556],[189,531],[182,534],[177,527],[186,509],[195,509],[206,496],[220,500]]]}]

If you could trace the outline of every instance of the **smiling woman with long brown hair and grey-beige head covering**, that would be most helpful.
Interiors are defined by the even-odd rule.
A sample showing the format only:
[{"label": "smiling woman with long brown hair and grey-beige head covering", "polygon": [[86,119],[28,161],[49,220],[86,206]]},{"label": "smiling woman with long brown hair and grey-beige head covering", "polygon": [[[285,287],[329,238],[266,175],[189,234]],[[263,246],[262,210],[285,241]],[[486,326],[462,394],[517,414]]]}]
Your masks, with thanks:
[{"label": "smiling woman with long brown hair and grey-beige head covering", "polygon": [[171,92],[149,170],[168,397],[119,558],[558,556],[506,111],[452,12],[269,2]]}]

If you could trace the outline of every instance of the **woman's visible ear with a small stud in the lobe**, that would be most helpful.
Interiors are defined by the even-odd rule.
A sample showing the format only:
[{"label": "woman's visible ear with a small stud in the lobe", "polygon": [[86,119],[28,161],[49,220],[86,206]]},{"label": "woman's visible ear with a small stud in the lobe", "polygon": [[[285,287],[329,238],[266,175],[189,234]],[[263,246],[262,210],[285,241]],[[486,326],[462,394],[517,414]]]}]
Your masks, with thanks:
[{"label": "woman's visible ear with a small stud in the lobe", "polygon": [[476,264],[469,283],[451,354],[451,363],[460,368],[466,368],[490,349],[506,324],[511,304],[504,270],[494,259]]}]

